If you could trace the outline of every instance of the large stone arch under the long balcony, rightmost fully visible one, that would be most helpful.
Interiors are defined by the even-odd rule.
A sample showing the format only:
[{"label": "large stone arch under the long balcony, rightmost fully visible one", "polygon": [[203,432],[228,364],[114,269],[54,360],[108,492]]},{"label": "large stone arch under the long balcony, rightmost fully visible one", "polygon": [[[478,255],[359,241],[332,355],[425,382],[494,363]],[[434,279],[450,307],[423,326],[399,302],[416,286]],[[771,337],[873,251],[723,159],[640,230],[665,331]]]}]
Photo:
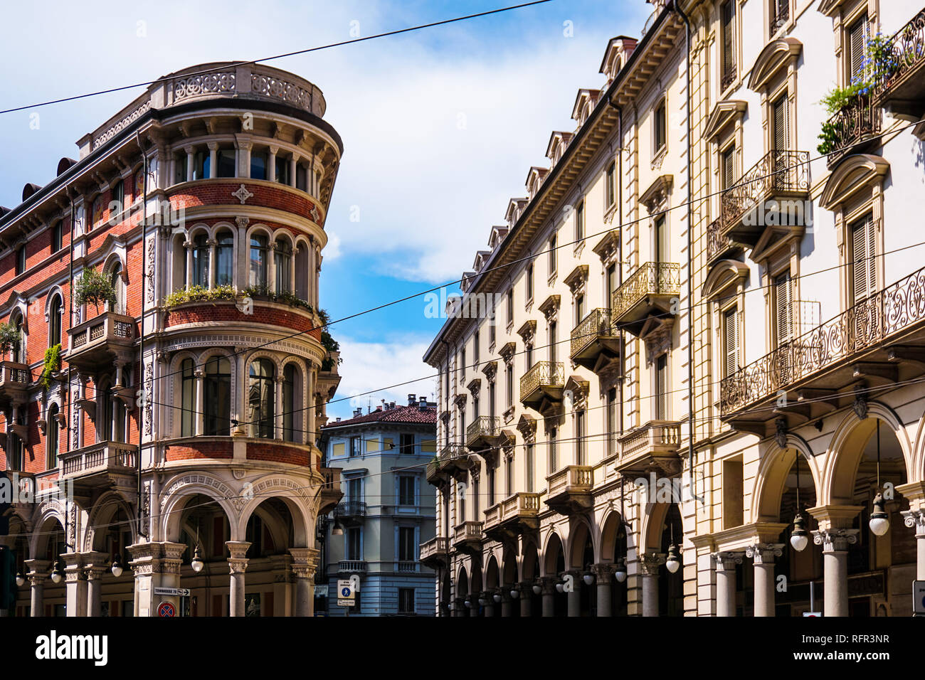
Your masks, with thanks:
[{"label": "large stone arch under the long balcony, rightmost fully visible one", "polygon": [[829,443],[825,468],[822,471],[822,483],[819,487],[820,505],[851,505],[854,496],[857,464],[864,454],[864,448],[876,428],[876,421],[882,420],[893,432],[903,451],[906,464],[906,477],[912,479],[913,451],[912,445],[899,416],[889,406],[881,402],[868,402],[867,417],[863,420],[852,409],[845,415],[835,429]]}]

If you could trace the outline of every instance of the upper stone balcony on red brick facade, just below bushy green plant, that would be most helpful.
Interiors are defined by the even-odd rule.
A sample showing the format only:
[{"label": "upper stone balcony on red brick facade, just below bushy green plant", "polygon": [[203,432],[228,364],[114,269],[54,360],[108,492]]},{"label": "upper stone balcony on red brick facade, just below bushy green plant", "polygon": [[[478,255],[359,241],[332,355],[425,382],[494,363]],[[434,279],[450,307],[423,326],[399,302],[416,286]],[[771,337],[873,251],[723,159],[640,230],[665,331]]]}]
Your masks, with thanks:
[{"label": "upper stone balcony on red brick facade, just below bushy green plant", "polygon": [[135,319],[104,312],[68,328],[70,344],[65,359],[68,364],[93,372],[117,363],[128,363],[135,343]]}]

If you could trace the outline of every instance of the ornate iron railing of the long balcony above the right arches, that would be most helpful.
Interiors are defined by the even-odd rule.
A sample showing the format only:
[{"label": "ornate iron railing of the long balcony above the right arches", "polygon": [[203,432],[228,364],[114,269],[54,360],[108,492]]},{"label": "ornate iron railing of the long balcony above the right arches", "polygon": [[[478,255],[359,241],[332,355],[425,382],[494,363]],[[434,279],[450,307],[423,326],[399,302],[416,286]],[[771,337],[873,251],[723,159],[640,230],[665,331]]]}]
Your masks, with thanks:
[{"label": "ornate iron railing of the long balcony above the right arches", "polygon": [[923,320],[925,267],[723,379],[720,414],[767,399]]}]

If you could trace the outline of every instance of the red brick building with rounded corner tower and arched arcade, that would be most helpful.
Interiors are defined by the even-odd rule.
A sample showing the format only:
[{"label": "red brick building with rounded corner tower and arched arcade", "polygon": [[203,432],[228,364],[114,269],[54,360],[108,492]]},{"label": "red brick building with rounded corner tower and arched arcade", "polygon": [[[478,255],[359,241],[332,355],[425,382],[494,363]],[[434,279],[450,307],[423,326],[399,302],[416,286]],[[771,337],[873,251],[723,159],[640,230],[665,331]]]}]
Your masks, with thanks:
[{"label": "red brick building with rounded corner tower and arched arcade", "polygon": [[325,107],[276,68],[186,68],[0,208],[19,615],[312,613],[340,496],[315,446],[339,383]]}]

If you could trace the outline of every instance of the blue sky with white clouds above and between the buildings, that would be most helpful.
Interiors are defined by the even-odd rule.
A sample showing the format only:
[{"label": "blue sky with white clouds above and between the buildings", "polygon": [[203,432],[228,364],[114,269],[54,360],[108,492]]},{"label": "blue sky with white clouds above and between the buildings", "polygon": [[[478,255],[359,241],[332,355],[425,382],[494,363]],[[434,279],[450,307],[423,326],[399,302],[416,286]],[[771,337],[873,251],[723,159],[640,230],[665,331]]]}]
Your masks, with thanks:
[{"label": "blue sky with white clouds above and between the buildings", "polygon": [[[154,80],[207,61],[255,59],[486,11],[478,2],[19,3],[5,7],[0,108]],[[459,278],[546,166],[551,130],[573,130],[576,91],[599,87],[614,35],[637,36],[644,0],[545,5],[270,62],[312,80],[344,156],[327,217],[321,300],[334,319]],[[353,23],[356,22],[356,23]],[[570,23],[566,23],[570,22]],[[567,35],[571,29],[571,35]],[[45,184],[61,156],[141,90],[0,117],[0,205]],[[32,116],[38,113],[38,129]],[[359,215],[359,220],[351,220]],[[441,321],[425,301],[332,327],[341,343],[337,398],[433,370],[421,355]],[[333,418],[436,381],[331,404]]]}]

